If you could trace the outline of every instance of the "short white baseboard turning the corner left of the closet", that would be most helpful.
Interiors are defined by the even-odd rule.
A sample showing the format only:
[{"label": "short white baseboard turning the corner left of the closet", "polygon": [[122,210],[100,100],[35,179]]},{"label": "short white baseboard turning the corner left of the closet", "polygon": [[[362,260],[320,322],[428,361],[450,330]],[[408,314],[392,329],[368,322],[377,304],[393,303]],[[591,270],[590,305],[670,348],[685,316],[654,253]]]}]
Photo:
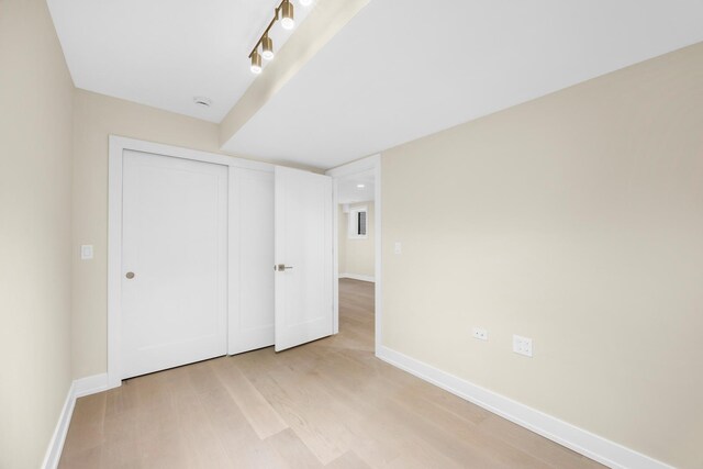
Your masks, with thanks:
[{"label": "short white baseboard turning the corner left of the closet", "polygon": [[74,415],[76,399],[102,392],[107,389],[108,373],[94,375],[77,379],[71,382],[68,388],[68,393],[66,394],[64,407],[58,416],[58,423],[54,429],[54,435],[52,435],[52,439],[48,443],[48,448],[44,456],[44,462],[42,462],[43,469],[56,469],[58,467],[58,461],[62,458],[62,451],[64,450],[64,443],[66,442],[66,434],[68,433],[68,425],[70,424],[70,417]]}]

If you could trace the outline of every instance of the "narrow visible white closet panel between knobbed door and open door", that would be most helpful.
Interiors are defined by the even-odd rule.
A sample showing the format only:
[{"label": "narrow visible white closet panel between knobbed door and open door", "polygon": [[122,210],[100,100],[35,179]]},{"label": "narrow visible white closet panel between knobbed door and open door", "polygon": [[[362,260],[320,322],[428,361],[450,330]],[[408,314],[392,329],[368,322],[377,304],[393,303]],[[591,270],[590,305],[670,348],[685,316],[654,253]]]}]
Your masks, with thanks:
[{"label": "narrow visible white closet panel between knobbed door and open door", "polygon": [[274,172],[233,168],[230,355],[274,345]]}]

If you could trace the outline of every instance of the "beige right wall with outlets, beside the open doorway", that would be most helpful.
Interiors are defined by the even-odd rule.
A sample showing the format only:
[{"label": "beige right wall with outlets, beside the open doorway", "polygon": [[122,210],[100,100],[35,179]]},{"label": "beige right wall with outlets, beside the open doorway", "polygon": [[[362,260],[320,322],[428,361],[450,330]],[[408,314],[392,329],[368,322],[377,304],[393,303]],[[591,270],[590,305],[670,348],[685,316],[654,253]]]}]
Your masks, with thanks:
[{"label": "beige right wall with outlets, beside the open doorway", "polygon": [[699,44],[386,152],[384,345],[703,467],[702,104]]}]

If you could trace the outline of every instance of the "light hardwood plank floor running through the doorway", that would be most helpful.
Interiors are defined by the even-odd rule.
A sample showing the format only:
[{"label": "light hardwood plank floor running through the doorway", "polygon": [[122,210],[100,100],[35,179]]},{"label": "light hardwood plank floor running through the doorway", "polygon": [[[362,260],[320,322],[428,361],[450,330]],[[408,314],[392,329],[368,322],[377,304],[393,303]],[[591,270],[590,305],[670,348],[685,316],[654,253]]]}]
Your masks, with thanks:
[{"label": "light hardwood plank floor running through the doorway", "polygon": [[81,398],[60,468],[593,468],[373,356],[372,283],[339,334],[135,378]]}]

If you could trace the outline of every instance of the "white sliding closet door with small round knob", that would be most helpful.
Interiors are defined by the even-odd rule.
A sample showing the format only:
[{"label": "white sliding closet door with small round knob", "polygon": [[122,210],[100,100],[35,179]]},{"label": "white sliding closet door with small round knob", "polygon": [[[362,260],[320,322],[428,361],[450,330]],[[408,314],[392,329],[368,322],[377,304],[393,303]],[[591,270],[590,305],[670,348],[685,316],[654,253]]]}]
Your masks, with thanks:
[{"label": "white sliding closet door with small round knob", "polygon": [[121,375],[227,351],[227,167],[124,152]]}]

